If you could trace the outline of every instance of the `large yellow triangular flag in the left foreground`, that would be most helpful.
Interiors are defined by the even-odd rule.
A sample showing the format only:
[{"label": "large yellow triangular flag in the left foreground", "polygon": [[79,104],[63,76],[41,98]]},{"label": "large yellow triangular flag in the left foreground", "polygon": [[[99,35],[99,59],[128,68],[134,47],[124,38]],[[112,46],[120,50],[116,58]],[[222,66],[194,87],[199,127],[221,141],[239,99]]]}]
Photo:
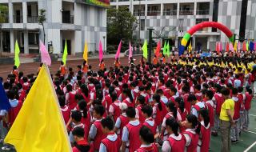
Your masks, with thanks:
[{"label": "large yellow triangular flag in the left foreground", "polygon": [[66,126],[50,72],[42,66],[13,126],[5,138],[18,152],[70,152]]}]

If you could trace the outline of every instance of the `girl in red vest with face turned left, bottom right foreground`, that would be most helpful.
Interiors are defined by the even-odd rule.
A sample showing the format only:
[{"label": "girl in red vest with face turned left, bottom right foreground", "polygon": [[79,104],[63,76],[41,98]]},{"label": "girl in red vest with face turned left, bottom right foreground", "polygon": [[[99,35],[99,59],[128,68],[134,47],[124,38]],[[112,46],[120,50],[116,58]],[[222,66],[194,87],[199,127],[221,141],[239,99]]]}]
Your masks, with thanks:
[{"label": "girl in red vest with face turned left, bottom right foreground", "polygon": [[194,114],[189,114],[186,116],[186,121],[183,122],[183,125],[186,126],[186,130],[182,133],[186,138],[186,151],[194,152],[198,147],[201,124]]}]

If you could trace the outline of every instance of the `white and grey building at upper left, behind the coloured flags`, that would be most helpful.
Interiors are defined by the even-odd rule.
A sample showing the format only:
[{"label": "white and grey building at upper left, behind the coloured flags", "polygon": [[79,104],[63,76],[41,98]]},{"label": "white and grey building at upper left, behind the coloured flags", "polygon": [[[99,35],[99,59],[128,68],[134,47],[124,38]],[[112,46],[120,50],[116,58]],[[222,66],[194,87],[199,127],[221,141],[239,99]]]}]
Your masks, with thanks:
[{"label": "white and grey building at upper left, behind the coloured flags", "polygon": [[39,40],[43,42],[40,9],[46,10],[46,47],[54,54],[62,53],[65,41],[68,54],[82,53],[85,42],[89,51],[97,50],[99,40],[106,42],[106,7],[86,0],[1,0],[0,5],[9,9],[2,25],[6,52],[14,53],[17,40],[22,53],[38,54]]}]

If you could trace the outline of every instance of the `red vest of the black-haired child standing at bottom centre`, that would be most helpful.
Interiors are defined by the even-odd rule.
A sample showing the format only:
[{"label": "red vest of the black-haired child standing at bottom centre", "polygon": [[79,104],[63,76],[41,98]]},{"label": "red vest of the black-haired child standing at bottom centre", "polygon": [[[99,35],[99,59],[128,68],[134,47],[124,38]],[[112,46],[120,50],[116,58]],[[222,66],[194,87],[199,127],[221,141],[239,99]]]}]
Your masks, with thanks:
[{"label": "red vest of the black-haired child standing at bottom centre", "polygon": [[139,137],[139,130],[142,127],[142,124],[140,123],[138,126],[133,126],[130,123],[126,125],[128,132],[129,132],[129,152],[134,152],[141,146],[140,140],[136,140]]}]

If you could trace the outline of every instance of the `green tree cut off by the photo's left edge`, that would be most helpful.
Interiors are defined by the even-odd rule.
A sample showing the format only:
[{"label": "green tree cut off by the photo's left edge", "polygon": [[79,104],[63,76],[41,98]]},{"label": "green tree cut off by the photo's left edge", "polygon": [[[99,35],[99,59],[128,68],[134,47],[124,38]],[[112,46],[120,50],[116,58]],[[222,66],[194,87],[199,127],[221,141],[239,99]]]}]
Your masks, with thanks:
[{"label": "green tree cut off by the photo's left edge", "polygon": [[2,57],[2,24],[7,22],[8,7],[0,5],[0,56]]}]

